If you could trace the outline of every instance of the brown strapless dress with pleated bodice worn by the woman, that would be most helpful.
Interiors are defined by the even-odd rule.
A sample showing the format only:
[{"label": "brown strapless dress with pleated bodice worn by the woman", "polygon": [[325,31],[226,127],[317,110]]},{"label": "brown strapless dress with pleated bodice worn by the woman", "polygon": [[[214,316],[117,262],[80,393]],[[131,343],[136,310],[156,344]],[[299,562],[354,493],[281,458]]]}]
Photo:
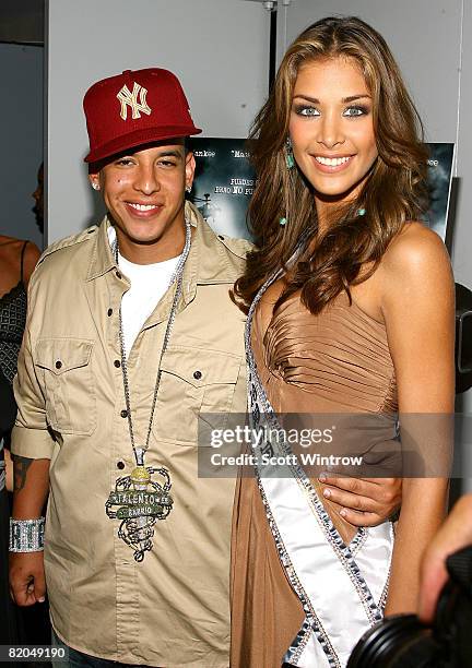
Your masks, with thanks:
[{"label": "brown strapless dress with pleated bodice worn by the woman", "polygon": [[[275,413],[397,410],[387,332],[341,294],[319,315],[292,296],[273,312],[273,284],[253,317],[252,349]],[[311,480],[318,493],[321,485]],[[355,529],[322,499],[345,542]],[[342,605],[342,601],[333,601]],[[232,541],[232,668],[280,668],[304,621],[302,604],[281,566],[257,482],[236,487]]]}]

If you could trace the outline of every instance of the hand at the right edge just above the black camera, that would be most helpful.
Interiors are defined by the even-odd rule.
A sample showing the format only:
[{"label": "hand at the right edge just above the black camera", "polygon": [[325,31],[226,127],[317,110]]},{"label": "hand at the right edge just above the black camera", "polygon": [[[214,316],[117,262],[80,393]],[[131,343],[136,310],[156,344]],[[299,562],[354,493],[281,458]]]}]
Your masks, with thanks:
[{"label": "hand at the right edge just above the black camera", "polygon": [[440,591],[448,580],[446,559],[468,545],[472,545],[472,494],[459,499],[424,553],[418,603],[423,621],[433,621]]}]

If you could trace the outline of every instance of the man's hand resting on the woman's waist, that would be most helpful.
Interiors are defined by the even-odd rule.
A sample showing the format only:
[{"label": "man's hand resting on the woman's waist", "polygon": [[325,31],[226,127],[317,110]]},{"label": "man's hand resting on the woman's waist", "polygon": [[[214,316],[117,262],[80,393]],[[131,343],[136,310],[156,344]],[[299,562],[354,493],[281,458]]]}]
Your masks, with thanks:
[{"label": "man's hand resting on the woman's waist", "polygon": [[321,474],[323,496],[342,505],[340,514],[354,526],[377,526],[401,505],[401,478],[342,478]]}]

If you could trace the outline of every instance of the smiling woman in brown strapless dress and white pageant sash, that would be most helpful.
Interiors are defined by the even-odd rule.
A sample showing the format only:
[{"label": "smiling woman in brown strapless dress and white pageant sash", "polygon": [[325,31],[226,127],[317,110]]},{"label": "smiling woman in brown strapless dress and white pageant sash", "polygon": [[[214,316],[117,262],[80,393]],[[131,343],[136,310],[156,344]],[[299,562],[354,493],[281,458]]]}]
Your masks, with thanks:
[{"label": "smiling woman in brown strapless dress and white pageant sash", "polygon": [[[359,416],[378,419],[356,444],[366,462],[389,464],[397,411],[452,411],[453,282],[440,239],[417,222],[420,130],[388,46],[361,20],[324,19],[290,47],[251,132],[257,250],[235,285],[252,305],[253,426],[273,426],[274,414],[337,415],[345,445]],[[430,426],[420,422],[411,436],[421,449]],[[297,466],[239,481],[233,668],[344,666],[384,611],[415,609],[446,479],[403,480],[394,547],[391,523],[356,532],[326,482]]]}]

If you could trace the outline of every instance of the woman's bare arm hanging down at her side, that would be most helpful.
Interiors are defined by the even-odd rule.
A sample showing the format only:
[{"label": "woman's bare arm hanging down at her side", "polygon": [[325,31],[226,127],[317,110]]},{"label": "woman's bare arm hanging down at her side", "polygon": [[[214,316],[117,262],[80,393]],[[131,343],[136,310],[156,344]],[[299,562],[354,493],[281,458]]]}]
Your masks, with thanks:
[{"label": "woman's bare arm hanging down at her side", "polygon": [[[455,396],[455,298],[449,258],[439,237],[417,223],[389,247],[380,271],[381,309],[393,359],[402,446],[408,424],[413,462],[436,477],[406,477],[397,527],[386,613],[416,609],[420,564],[442,522],[447,501],[448,433]],[[403,414],[403,418],[402,418]],[[414,415],[411,415],[414,414]],[[444,438],[438,439],[438,427]],[[406,436],[406,434],[405,434]],[[446,442],[445,442],[446,441]],[[413,454],[413,456],[412,456]],[[421,475],[417,468],[411,475]],[[442,477],[440,477],[442,476]]]}]

